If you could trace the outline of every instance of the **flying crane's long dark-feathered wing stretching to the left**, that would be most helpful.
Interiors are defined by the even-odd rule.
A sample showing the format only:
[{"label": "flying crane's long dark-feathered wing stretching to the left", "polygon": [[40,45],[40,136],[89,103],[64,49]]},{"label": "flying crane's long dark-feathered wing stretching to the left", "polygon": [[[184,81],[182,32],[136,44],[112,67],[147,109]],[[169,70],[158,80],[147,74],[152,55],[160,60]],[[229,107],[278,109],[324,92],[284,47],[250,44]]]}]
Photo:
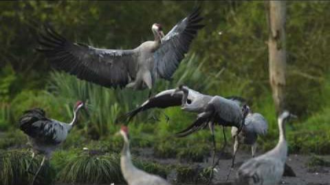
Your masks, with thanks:
[{"label": "flying crane's long dark-feathered wing stretching to the left", "polygon": [[56,69],[101,86],[123,87],[135,78],[135,50],[98,49],[70,42],[45,26],[40,33],[41,51]]}]

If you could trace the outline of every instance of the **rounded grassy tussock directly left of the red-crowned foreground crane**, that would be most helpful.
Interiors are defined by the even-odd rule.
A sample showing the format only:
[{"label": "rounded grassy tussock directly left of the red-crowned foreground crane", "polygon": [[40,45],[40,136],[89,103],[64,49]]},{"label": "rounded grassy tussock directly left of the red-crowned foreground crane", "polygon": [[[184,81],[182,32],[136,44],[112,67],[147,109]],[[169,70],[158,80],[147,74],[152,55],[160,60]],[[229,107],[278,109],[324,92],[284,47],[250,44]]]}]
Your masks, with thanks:
[{"label": "rounded grassy tussock directly left of the red-crowned foreground crane", "polygon": [[67,162],[58,173],[58,181],[81,184],[111,184],[124,182],[119,165],[119,158],[80,153]]}]

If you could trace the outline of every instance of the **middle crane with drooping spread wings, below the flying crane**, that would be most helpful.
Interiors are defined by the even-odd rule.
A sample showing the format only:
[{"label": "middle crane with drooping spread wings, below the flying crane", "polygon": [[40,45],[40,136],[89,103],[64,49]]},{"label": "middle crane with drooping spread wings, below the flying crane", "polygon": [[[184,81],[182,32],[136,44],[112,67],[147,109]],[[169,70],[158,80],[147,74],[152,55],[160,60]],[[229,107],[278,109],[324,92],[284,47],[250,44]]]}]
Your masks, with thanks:
[{"label": "middle crane with drooping spread wings, below the flying crane", "polygon": [[[243,100],[239,97],[231,97],[231,99],[225,99],[223,97],[210,95],[203,95],[195,90],[188,88],[187,86],[179,86],[175,89],[164,90],[158,93],[154,97],[149,98],[147,101],[142,103],[141,106],[135,108],[131,112],[128,112],[124,118],[131,119],[137,113],[150,108],[168,108],[171,106],[180,106],[182,110],[187,112],[197,112],[197,121],[190,125],[186,130],[178,132],[176,136],[184,137],[192,134],[193,132],[206,127],[210,127],[212,134],[213,143],[213,159],[212,168],[214,168],[214,156],[215,156],[215,138],[214,138],[214,124],[219,123],[224,126],[235,126],[239,130],[243,127],[244,118],[248,114],[248,107],[243,106],[243,111],[239,107],[239,101],[236,99]],[[225,135],[224,135],[225,139]],[[226,145],[225,139],[225,145]],[[225,148],[223,145],[223,149]]]}]

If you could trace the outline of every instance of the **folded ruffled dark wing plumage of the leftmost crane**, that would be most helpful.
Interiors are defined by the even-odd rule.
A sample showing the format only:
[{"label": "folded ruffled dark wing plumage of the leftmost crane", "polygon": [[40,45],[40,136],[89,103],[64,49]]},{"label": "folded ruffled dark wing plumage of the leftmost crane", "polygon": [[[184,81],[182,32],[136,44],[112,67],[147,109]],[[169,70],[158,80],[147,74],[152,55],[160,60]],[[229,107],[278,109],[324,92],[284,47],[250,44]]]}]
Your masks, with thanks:
[{"label": "folded ruffled dark wing plumage of the leftmost crane", "polygon": [[63,125],[47,119],[45,111],[40,108],[25,111],[19,119],[19,128],[31,138],[45,144],[58,144],[63,141],[62,137],[58,136],[58,134],[63,134]]}]

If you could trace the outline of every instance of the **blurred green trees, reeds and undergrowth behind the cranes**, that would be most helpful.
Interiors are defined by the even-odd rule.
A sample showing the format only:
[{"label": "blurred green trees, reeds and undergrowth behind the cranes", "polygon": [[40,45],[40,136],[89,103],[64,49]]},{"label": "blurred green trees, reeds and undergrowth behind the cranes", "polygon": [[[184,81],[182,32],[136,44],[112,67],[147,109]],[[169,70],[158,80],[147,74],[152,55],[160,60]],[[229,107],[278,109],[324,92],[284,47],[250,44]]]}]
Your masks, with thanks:
[{"label": "blurred green trees, reeds and undergrowth behind the cranes", "polygon": [[[187,84],[201,93],[245,97],[254,112],[264,114],[270,124],[269,134],[259,139],[259,149],[274,147],[278,131],[268,80],[268,29],[263,1],[199,4],[206,27],[192,42],[173,82],[157,82],[155,92]],[[1,149],[19,152],[26,148],[27,139],[17,129],[23,110],[41,107],[47,116],[69,122],[74,102],[88,99],[91,117],[80,116],[80,123],[64,143],[63,149],[72,156],[66,160],[85,155],[81,151],[83,147],[118,152],[120,139],[112,135],[119,125],[113,121],[148,96],[147,91],[101,88],[53,71],[45,57],[35,51],[37,32],[43,23],[50,23],[72,41],[108,49],[131,49],[153,39],[153,23],[162,23],[164,32],[168,32],[195,5],[195,1],[1,1]],[[329,10],[327,1],[287,2],[286,104],[287,110],[300,118],[288,128],[290,152],[330,152]],[[179,108],[169,108],[164,113],[170,121],[166,122],[158,110],[150,110],[133,120],[132,146],[151,147],[160,158],[199,160],[209,156],[208,130],[186,139],[168,139],[170,134],[190,124],[195,115],[182,113]],[[159,120],[151,119],[153,114]],[[218,130],[217,142],[221,143],[221,130]],[[56,155],[61,152],[64,151]],[[71,167],[64,168],[67,162],[54,158],[58,159],[53,160],[55,169]],[[80,179],[58,176],[63,182]]]}]

